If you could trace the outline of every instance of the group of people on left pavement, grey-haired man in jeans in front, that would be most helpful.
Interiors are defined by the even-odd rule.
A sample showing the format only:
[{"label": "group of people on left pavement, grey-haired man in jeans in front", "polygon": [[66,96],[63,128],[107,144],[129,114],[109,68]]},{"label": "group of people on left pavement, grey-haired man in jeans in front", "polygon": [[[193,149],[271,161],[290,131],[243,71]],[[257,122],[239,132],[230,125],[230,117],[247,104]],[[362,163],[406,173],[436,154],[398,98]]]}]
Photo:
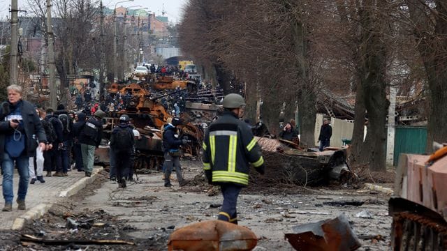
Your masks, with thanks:
[{"label": "group of people on left pavement, grey-haired man in jeans in front", "polygon": [[21,86],[13,84],[6,91],[8,100],[0,107],[0,163],[5,199],[2,211],[13,209],[14,167],[20,176],[17,208],[24,210],[28,185],[36,181],[45,183],[44,171],[46,176],[68,176],[72,149],[75,168],[91,176],[105,112],[98,110],[87,118],[82,112],[68,112],[61,104],[56,111],[41,109],[22,100]]}]

